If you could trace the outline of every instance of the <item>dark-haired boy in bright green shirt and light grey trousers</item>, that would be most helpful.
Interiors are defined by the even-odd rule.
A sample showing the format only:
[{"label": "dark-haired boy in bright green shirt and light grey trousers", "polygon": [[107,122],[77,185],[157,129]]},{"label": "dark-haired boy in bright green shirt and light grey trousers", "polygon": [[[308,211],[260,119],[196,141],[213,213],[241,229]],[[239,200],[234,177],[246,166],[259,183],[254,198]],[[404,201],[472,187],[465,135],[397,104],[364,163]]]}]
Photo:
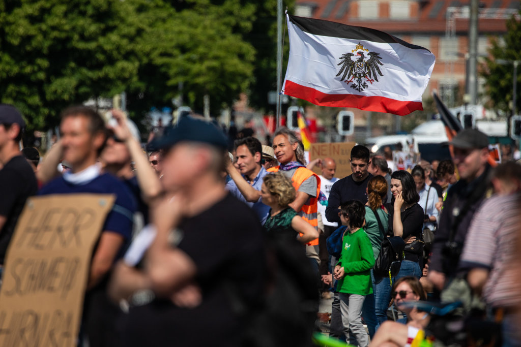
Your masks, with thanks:
[{"label": "dark-haired boy in bright green shirt and light grey trousers", "polygon": [[365,296],[373,292],[370,269],[375,264],[371,241],[365,233],[365,208],[362,202],[350,200],[340,205],[342,225],[348,227],[342,238],[342,254],[334,267],[338,280],[342,325],[347,341],[351,332],[360,347],[367,347],[369,339],[362,324],[362,306]]}]

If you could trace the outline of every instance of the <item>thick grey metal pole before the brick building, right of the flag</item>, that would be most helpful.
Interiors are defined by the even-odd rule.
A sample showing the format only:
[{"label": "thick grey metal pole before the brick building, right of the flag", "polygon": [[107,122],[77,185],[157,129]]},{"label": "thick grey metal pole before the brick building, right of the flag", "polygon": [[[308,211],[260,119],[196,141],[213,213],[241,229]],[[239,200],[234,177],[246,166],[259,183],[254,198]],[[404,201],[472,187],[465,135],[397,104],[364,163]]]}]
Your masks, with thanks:
[{"label": "thick grey metal pole before the brick building, right of the flag", "polygon": [[479,11],[479,0],[470,1],[470,21],[468,28],[468,94],[470,94],[470,104],[477,104],[478,96],[478,11]]}]

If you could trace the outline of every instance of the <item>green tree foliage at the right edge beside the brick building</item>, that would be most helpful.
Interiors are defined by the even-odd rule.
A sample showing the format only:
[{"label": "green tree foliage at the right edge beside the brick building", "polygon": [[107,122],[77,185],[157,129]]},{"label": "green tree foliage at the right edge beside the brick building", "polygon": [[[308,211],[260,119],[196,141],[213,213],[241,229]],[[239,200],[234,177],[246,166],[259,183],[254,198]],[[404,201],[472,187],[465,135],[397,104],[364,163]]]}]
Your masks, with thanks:
[{"label": "green tree foliage at the right edge beside the brick building", "polygon": [[[521,14],[521,11],[519,12]],[[491,106],[496,109],[511,113],[509,103],[512,101],[513,92],[513,61],[521,60],[521,21],[512,17],[506,22],[507,32],[503,36],[503,43],[497,38],[492,38],[492,46],[489,49],[489,57],[481,67],[481,75],[486,79],[487,95]],[[498,62],[498,59],[507,62]],[[517,109],[521,104],[521,65],[517,67]]]}]

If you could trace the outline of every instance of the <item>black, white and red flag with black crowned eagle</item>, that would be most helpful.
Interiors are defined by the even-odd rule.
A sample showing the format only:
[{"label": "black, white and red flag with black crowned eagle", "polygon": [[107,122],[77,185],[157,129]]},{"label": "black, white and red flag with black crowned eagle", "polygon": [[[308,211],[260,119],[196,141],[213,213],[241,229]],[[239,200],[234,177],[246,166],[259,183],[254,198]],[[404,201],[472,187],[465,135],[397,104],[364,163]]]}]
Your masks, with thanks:
[{"label": "black, white and red flag with black crowned eagle", "polygon": [[286,15],[282,93],[320,106],[405,115],[423,110],[435,56],[381,31]]}]

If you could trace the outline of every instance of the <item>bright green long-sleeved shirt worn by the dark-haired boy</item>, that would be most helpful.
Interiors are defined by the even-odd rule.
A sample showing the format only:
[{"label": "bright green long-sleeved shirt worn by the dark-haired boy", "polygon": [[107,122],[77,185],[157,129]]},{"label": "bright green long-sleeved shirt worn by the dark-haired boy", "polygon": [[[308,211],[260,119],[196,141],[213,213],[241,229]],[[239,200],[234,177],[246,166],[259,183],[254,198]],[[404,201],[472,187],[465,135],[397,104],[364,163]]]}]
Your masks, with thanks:
[{"label": "bright green long-sleeved shirt worn by the dark-haired boy", "polygon": [[372,293],[371,267],[375,265],[375,256],[365,230],[360,228],[353,234],[346,230],[342,245],[337,265],[344,268],[345,276],[338,281],[337,290],[359,295]]}]

